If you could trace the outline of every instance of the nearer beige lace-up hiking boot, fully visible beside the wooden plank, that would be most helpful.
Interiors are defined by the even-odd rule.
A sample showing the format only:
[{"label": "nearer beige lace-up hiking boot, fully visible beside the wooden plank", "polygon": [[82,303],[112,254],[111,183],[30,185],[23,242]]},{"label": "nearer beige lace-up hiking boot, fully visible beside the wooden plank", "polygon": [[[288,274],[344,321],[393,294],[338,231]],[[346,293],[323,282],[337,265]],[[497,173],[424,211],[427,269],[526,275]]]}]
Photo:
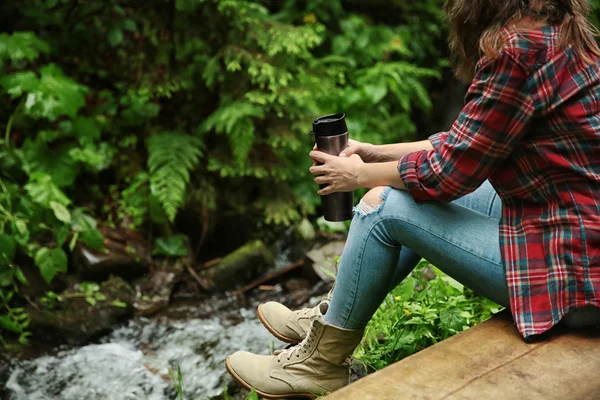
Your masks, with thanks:
[{"label": "nearer beige lace-up hiking boot, fully visible beside the wooden plank", "polygon": [[227,357],[225,365],[242,386],[254,388],[265,399],[315,399],[348,384],[350,365],[346,359],[363,332],[329,325],[315,315],[300,344],[275,356],[238,351]]}]

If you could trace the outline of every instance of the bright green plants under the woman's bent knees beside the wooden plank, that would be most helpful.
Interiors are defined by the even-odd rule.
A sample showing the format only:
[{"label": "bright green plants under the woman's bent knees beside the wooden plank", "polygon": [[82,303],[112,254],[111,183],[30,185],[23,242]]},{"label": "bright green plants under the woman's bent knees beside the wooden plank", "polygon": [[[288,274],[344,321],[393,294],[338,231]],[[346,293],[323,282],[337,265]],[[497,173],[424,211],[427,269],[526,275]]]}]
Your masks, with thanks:
[{"label": "bright green plants under the woman's bent knees beside the wooden plank", "polygon": [[[426,269],[433,279],[425,279]],[[377,310],[355,357],[381,369],[501,310],[423,260]]]}]

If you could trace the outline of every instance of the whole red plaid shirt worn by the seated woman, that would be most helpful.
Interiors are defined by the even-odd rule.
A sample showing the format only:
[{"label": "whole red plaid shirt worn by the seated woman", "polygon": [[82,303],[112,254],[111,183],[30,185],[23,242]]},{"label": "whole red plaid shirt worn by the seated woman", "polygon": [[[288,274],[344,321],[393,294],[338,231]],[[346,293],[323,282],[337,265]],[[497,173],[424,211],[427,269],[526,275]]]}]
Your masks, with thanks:
[{"label": "whole red plaid shirt worn by the seated woman", "polygon": [[416,201],[451,201],[489,179],[510,305],[524,337],[600,307],[600,60],[558,46],[559,29],[504,30],[434,150],[398,164]]}]

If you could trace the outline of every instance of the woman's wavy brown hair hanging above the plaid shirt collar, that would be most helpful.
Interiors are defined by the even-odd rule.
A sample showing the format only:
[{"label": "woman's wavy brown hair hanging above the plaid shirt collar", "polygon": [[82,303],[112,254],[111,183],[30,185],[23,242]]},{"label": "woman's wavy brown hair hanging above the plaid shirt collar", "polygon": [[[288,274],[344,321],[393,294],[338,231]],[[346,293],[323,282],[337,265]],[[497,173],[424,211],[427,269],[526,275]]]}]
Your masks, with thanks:
[{"label": "woman's wavy brown hair hanging above the plaid shirt collar", "polygon": [[561,48],[572,45],[586,62],[600,56],[594,40],[598,31],[588,20],[588,0],[447,0],[445,8],[456,75],[467,82],[481,56],[494,59],[502,50],[502,28],[526,17],[559,25]]}]

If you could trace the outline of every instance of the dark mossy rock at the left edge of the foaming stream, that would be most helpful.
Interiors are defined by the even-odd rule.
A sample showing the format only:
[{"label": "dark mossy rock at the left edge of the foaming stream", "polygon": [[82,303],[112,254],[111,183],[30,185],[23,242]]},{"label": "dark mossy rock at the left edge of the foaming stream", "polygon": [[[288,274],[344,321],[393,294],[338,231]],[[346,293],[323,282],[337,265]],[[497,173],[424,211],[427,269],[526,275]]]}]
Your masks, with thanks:
[{"label": "dark mossy rock at the left edge of the foaming stream", "polygon": [[29,328],[41,337],[58,336],[69,343],[81,343],[109,331],[133,314],[135,293],[123,279],[111,277],[96,293],[104,295],[105,300],[95,297],[93,306],[76,288],[62,292],[63,300],[55,302],[53,309],[38,302],[27,310],[31,316]]}]

